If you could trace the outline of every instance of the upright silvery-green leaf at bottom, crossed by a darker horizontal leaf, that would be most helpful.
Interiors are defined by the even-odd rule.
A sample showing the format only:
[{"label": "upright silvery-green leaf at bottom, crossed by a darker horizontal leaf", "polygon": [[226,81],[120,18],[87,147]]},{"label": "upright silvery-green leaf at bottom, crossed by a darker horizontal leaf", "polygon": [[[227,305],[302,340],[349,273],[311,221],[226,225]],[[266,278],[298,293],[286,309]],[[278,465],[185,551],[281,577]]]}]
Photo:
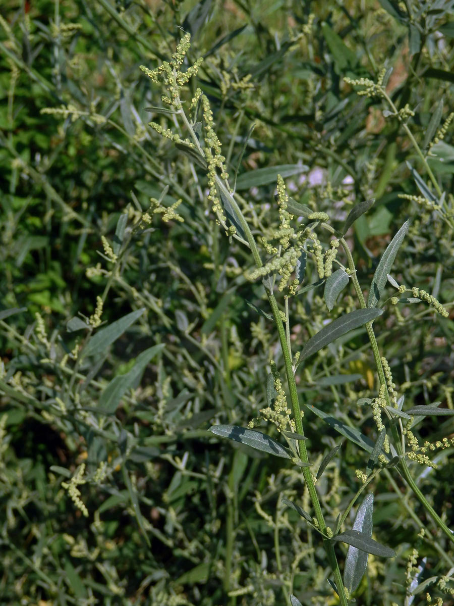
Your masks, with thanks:
[{"label": "upright silvery-green leaf at bottom, crossed by a darker horizontal leaf", "polygon": [[[360,507],[358,507],[353,529],[359,530],[369,539],[372,538],[372,511],[373,494],[367,494]],[[369,553],[361,551],[353,545],[348,548],[344,565],[344,583],[350,594],[358,588],[363,574],[366,572],[368,559]]]}]

